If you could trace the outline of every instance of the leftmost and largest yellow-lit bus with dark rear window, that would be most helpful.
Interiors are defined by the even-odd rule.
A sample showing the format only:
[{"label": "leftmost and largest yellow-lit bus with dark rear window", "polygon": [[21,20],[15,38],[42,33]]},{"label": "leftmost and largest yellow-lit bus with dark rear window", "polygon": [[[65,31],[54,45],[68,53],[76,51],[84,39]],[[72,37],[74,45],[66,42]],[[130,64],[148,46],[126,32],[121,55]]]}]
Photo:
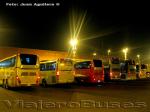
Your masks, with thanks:
[{"label": "leftmost and largest yellow-lit bus with dark rear window", "polygon": [[0,61],[0,82],[4,88],[36,86],[39,78],[37,55],[17,54]]}]

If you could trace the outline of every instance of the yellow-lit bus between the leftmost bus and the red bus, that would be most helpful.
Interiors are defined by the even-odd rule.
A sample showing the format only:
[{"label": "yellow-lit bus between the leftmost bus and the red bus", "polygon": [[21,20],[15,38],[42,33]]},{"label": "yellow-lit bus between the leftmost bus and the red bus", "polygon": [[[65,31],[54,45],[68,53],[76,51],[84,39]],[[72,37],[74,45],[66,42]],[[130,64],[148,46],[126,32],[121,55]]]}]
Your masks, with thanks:
[{"label": "yellow-lit bus between the leftmost bus and the red bus", "polygon": [[42,86],[74,82],[73,61],[68,58],[40,62],[40,84]]}]

